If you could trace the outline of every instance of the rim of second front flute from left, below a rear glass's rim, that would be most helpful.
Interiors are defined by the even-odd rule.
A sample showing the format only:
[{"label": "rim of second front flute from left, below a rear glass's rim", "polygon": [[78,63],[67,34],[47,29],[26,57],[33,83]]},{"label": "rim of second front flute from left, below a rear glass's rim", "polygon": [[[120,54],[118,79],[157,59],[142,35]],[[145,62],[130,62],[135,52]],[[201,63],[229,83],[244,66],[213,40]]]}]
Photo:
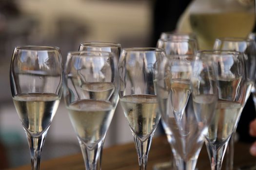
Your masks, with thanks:
[{"label": "rim of second front flute from left, below a rear glass's rim", "polygon": [[[98,54],[98,55],[97,55]],[[99,55],[102,54],[102,55]],[[72,57],[115,57],[112,52],[108,51],[69,51],[68,56]]]}]

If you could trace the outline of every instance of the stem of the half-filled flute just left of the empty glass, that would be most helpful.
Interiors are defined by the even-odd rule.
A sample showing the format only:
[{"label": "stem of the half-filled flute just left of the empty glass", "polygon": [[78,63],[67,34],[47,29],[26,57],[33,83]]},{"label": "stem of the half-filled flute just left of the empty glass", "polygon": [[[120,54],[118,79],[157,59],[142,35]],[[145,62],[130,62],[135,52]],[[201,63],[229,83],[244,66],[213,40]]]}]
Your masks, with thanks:
[{"label": "stem of the half-filled flute just left of the empty glass", "polygon": [[136,135],[134,135],[134,141],[136,145],[136,151],[138,153],[138,165],[139,170],[146,170],[148,161],[148,152],[151,146],[154,132],[144,141],[141,141]]}]

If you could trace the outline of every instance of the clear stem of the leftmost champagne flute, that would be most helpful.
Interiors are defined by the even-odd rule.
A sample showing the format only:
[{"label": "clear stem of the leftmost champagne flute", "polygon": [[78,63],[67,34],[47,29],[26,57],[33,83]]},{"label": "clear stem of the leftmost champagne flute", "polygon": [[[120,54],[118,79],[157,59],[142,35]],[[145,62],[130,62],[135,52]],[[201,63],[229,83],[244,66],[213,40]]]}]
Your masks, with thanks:
[{"label": "clear stem of the leftmost champagne flute", "polygon": [[32,170],[39,170],[42,146],[48,129],[49,127],[40,136],[32,136],[26,131],[28,145],[30,148]]}]

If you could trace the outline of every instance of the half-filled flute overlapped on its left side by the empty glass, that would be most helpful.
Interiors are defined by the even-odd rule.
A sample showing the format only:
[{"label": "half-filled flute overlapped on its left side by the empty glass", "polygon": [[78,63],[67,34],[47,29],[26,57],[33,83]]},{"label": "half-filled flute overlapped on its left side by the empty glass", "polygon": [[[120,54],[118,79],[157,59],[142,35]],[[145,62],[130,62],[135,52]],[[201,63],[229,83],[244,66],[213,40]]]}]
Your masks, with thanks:
[{"label": "half-filled flute overlapped on its left side by the empty glass", "polygon": [[217,110],[205,143],[212,170],[220,170],[228,141],[246,101],[248,86],[244,56],[236,51],[205,51],[204,57],[214,58],[217,63]]}]

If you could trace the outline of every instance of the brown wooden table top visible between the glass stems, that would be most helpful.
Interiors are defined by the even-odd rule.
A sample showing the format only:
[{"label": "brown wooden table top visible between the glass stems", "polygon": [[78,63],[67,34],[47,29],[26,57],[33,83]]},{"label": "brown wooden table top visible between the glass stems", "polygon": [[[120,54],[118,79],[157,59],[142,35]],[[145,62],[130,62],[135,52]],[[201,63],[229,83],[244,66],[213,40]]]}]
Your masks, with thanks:
[{"label": "brown wooden table top visible between the glass stems", "polygon": [[[235,143],[235,167],[252,164],[256,157],[249,154],[250,144]],[[171,159],[171,149],[165,136],[155,137],[148,157],[148,170]],[[223,164],[223,169],[224,169]],[[197,161],[199,170],[210,170],[210,161],[203,147]],[[10,170],[31,170],[30,165]],[[41,162],[40,170],[85,170],[82,154],[75,154]],[[102,170],[138,170],[134,143],[113,146],[103,150]]]}]

